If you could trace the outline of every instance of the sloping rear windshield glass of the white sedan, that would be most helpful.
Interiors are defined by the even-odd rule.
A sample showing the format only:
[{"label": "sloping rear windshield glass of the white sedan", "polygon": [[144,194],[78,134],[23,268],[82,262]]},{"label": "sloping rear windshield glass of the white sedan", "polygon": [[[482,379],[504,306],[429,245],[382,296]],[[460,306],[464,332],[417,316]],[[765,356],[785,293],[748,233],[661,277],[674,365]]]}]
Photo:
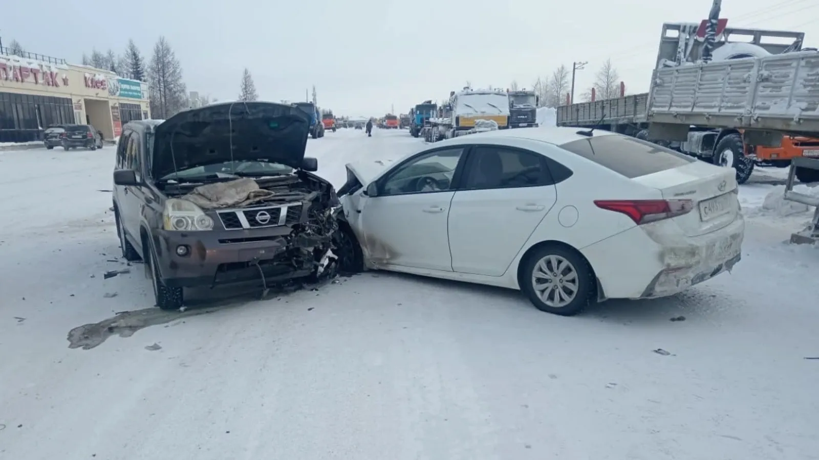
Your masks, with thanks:
[{"label": "sloping rear windshield glass of the white sedan", "polygon": [[639,178],[697,161],[695,158],[651,142],[616,135],[566,142],[560,148],[594,161],[627,178]]}]

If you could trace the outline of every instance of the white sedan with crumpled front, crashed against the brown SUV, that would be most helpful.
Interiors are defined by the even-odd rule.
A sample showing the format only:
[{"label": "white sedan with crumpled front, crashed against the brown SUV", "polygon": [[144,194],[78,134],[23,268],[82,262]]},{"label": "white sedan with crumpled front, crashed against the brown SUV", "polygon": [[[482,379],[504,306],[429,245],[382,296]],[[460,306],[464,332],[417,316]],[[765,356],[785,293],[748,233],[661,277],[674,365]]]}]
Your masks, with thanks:
[{"label": "white sedan with crumpled front, crashed against the brown SUV", "polygon": [[673,295],[740,260],[733,169],[616,133],[492,131],[346,167],[347,259],[519,289],[545,312]]}]

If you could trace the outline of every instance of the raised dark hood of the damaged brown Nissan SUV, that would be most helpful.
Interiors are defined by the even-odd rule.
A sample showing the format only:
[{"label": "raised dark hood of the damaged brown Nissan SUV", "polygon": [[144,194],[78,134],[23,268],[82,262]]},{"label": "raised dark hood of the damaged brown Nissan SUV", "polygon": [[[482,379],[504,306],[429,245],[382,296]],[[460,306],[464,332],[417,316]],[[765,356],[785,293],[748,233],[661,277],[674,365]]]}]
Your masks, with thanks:
[{"label": "raised dark hood of the damaged brown Nissan SUV", "polygon": [[224,102],[179,112],[154,135],[153,178],[230,160],[301,168],[310,118],[274,102]]}]

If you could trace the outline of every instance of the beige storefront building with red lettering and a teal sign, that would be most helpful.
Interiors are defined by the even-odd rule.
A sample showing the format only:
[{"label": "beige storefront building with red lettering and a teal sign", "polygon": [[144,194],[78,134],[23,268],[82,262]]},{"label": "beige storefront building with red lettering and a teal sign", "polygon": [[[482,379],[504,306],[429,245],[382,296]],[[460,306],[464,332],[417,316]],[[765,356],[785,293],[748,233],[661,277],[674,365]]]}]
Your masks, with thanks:
[{"label": "beige storefront building with red lettering and a teal sign", "polygon": [[92,124],[111,140],[150,118],[147,83],[25,53],[0,53],[0,142],[32,142],[51,124]]}]

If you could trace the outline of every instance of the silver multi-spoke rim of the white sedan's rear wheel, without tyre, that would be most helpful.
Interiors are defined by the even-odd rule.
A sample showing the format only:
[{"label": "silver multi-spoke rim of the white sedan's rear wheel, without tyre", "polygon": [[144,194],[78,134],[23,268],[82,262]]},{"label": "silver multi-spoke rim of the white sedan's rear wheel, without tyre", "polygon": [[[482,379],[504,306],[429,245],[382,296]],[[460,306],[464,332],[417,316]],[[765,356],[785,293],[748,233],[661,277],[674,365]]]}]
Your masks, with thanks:
[{"label": "silver multi-spoke rim of the white sedan's rear wheel, without tyre", "polygon": [[563,308],[575,300],[580,289],[577,269],[561,255],[547,255],[535,264],[532,288],[544,304]]}]

